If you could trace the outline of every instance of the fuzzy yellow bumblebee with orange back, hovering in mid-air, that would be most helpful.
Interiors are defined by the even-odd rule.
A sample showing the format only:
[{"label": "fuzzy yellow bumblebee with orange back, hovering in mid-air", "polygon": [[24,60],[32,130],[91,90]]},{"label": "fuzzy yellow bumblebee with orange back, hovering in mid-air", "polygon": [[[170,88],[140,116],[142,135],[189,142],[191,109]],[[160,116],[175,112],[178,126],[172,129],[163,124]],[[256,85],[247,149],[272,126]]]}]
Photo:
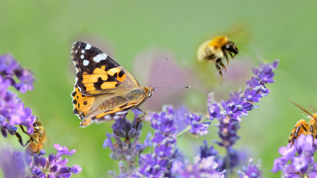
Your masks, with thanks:
[{"label": "fuzzy yellow bumblebee with orange back, hovering in mid-air", "polygon": [[[199,61],[207,60],[209,63],[215,63],[216,68],[220,75],[220,85],[222,82],[221,68],[227,70],[221,59],[225,57],[227,59],[227,65],[229,65],[229,59],[227,53],[230,54],[231,58],[235,57],[239,53],[236,44],[233,41],[229,41],[226,36],[217,36],[212,40],[205,41],[198,48],[197,58]],[[232,55],[232,53],[234,55]]]}]

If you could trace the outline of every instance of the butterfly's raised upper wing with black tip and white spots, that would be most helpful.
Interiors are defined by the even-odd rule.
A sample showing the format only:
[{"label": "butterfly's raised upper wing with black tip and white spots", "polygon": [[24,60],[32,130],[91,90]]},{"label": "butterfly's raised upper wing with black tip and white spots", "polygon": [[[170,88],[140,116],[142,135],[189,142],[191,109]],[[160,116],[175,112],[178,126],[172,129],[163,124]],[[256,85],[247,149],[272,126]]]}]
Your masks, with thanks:
[{"label": "butterfly's raised upper wing with black tip and white spots", "polygon": [[138,81],[115,60],[85,42],[75,42],[72,58],[76,84],[84,95],[119,93],[139,86]]}]

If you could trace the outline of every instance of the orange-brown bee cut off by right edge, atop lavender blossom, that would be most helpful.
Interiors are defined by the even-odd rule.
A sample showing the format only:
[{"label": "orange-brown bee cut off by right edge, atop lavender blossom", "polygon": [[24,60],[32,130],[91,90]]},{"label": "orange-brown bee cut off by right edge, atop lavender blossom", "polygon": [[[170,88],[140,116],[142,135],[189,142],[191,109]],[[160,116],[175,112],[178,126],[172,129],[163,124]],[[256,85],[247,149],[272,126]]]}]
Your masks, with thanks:
[{"label": "orange-brown bee cut off by right edge, atop lavender blossom", "polygon": [[309,124],[304,119],[301,119],[300,121],[297,121],[297,123],[294,126],[294,129],[291,132],[291,135],[288,137],[288,143],[294,143],[294,140],[297,139],[297,137],[301,134],[304,135],[312,135],[314,139],[317,138],[317,113],[311,114],[309,111],[307,111],[303,106],[293,102],[294,105],[299,107],[301,110],[305,111],[308,114],[308,117],[311,118],[309,120]]}]

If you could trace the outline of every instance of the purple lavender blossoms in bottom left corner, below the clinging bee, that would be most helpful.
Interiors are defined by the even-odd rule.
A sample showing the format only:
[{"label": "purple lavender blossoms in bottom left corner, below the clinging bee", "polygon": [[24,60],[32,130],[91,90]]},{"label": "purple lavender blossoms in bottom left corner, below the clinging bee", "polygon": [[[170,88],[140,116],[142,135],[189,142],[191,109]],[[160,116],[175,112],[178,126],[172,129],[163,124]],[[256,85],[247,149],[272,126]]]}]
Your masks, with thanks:
[{"label": "purple lavender blossoms in bottom left corner, below the clinging bee", "polygon": [[[72,155],[75,149],[69,151],[68,148],[54,144],[57,153],[50,154],[49,157],[43,157],[45,151],[41,150],[39,154],[35,154],[33,159],[26,153],[9,149],[1,151],[0,167],[7,178],[69,178],[72,173],[81,172],[81,167],[74,165],[67,167],[67,159],[62,159],[63,155]],[[27,168],[27,169],[26,169]]]}]

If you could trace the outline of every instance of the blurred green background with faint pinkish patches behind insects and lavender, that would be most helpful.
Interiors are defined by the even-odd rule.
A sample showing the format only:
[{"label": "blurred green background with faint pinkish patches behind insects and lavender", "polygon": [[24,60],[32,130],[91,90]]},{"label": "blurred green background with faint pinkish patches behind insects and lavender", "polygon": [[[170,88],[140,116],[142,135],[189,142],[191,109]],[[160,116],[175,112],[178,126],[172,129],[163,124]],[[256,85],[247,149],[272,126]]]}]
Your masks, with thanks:
[{"label": "blurred green background with faint pinkish patches behind insects and lavender", "polygon": [[[270,93],[258,103],[260,108],[242,118],[241,139],[235,148],[262,159],[264,177],[281,177],[280,172],[269,170],[296,121],[304,118],[288,100],[306,108],[317,106],[316,7],[316,1],[274,0],[2,1],[0,54],[13,54],[33,71],[34,91],[19,93],[19,97],[47,130],[46,153],[56,153],[55,143],[77,150],[63,158],[68,158],[69,166],[83,168],[73,175],[78,178],[107,177],[108,170],[118,172],[118,162],[109,158],[110,149],[102,148],[113,122],[82,129],[72,113],[75,69],[70,50],[74,41],[89,42],[113,56],[141,86],[151,84],[169,55],[153,86],[191,88],[158,90],[141,106],[144,111],[161,111],[162,105],[173,104],[204,114],[208,92],[215,92],[218,101],[228,99],[231,90],[244,89],[245,80],[253,76],[251,67],[278,58],[275,83],[267,86]],[[216,35],[227,35],[239,49],[223,72],[221,86],[214,65],[198,63],[196,58],[199,45]],[[178,138],[178,148],[192,161],[203,140],[219,140],[217,123],[213,121],[210,133],[199,139],[191,134]],[[150,123],[144,122],[141,141],[149,131]],[[0,143],[22,150],[15,136],[0,138]]]}]

